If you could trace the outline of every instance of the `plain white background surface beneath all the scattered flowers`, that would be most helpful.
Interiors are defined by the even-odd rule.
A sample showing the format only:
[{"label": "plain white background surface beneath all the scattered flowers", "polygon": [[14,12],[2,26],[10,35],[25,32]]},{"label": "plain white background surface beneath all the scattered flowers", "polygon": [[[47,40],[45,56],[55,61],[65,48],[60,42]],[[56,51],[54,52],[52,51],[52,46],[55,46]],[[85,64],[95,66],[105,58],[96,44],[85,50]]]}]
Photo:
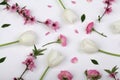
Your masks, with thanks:
[{"label": "plain white background surface beneath all the scattered flowers", "polygon": [[[44,80],[58,80],[57,75],[61,70],[70,71],[74,76],[73,80],[86,80],[84,75],[86,69],[99,70],[102,74],[100,80],[112,80],[108,78],[108,74],[104,72],[104,69],[111,69],[115,65],[120,67],[120,58],[102,53],[86,54],[79,50],[79,44],[84,38],[89,38],[94,40],[100,49],[120,53],[120,34],[113,34],[110,28],[111,23],[120,20],[119,0],[113,3],[113,12],[106,15],[101,23],[97,21],[97,16],[103,13],[105,6],[103,0],[93,0],[92,3],[88,3],[86,0],[76,0],[76,4],[72,4],[71,0],[63,0],[66,7],[74,10],[79,15],[79,18],[83,13],[86,14],[84,23],[81,23],[79,19],[75,24],[68,24],[63,20],[61,17],[63,9],[57,0],[11,0],[10,4],[16,2],[21,7],[27,6],[31,10],[32,15],[38,20],[45,21],[47,18],[50,18],[53,21],[59,21],[61,28],[57,32],[54,32],[42,24],[24,25],[21,16],[2,10],[4,7],[0,6],[0,25],[5,23],[11,24],[8,28],[0,28],[0,43],[14,41],[21,33],[28,30],[33,30],[37,33],[38,41],[36,46],[38,48],[41,48],[47,42],[56,40],[59,34],[63,34],[68,38],[68,45],[66,47],[62,47],[59,44],[47,46],[48,50],[45,51],[45,54],[37,58],[34,71],[29,71],[24,75],[25,80],[39,80],[42,72],[47,67],[46,56],[51,49],[60,51],[65,56],[65,60],[59,66],[51,68]],[[47,5],[52,5],[52,8],[48,8]],[[95,22],[96,30],[104,32],[108,37],[104,38],[94,32],[87,35],[85,28],[91,21]],[[79,31],[79,34],[74,32],[75,29]],[[45,33],[48,31],[51,34],[45,36]],[[28,47],[19,44],[0,48],[0,57],[7,57],[6,61],[0,64],[0,80],[12,80],[13,77],[19,77],[25,69],[25,66],[21,62],[32,52],[32,49],[33,46]],[[73,57],[79,59],[76,64],[70,62]],[[96,59],[99,65],[92,64],[90,59]],[[120,72],[120,69],[118,71]],[[120,73],[118,77],[120,77]]]}]

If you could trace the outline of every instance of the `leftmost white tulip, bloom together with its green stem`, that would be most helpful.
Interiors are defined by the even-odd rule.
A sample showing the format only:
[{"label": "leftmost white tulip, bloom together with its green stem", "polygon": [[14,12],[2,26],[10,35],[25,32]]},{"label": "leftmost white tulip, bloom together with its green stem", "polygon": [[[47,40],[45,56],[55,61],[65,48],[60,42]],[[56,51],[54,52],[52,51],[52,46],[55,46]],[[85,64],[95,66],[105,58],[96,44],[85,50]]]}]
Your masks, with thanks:
[{"label": "leftmost white tulip, bloom together with its green stem", "polygon": [[18,40],[0,44],[0,47],[15,44],[15,43],[20,43],[26,46],[32,46],[35,44],[36,39],[37,39],[37,35],[35,34],[35,32],[30,30],[30,31],[26,31],[23,34],[21,34]]}]

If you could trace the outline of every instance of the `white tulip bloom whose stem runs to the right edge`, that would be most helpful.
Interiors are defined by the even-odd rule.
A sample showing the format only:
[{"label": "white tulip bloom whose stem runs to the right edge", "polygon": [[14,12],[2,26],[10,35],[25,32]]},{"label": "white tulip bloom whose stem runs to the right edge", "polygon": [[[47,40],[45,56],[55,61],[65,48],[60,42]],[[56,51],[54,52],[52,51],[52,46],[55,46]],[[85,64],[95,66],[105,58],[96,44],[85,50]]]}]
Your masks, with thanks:
[{"label": "white tulip bloom whose stem runs to the right edge", "polygon": [[81,50],[87,53],[95,53],[99,50],[98,46],[90,39],[82,40],[80,44],[80,48]]}]

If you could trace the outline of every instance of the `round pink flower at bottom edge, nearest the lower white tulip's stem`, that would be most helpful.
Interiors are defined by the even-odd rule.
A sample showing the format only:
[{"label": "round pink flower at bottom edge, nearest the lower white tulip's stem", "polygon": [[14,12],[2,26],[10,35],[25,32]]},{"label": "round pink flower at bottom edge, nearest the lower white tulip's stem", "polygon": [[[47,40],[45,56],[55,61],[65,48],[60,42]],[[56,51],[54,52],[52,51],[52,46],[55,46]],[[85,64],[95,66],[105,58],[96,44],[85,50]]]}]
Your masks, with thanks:
[{"label": "round pink flower at bottom edge, nearest the lower white tulip's stem", "polygon": [[58,74],[58,79],[59,80],[72,80],[72,78],[73,78],[73,75],[68,71],[61,71]]}]

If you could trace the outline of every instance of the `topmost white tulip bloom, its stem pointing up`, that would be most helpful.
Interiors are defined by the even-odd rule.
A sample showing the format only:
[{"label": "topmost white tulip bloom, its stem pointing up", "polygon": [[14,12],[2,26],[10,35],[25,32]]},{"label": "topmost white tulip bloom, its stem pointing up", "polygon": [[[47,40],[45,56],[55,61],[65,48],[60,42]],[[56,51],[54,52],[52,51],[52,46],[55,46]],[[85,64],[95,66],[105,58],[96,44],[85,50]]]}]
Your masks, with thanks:
[{"label": "topmost white tulip bloom, its stem pointing up", "polygon": [[70,9],[65,9],[64,10],[63,17],[69,23],[75,23],[78,20],[77,14]]}]

